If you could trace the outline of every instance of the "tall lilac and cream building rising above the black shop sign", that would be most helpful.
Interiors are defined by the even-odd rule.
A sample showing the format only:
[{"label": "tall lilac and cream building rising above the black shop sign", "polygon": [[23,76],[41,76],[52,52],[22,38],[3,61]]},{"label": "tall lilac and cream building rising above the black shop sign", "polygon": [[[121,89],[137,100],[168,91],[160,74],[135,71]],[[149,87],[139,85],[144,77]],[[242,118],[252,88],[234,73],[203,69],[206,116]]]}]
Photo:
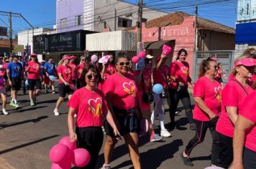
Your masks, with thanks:
[{"label": "tall lilac and cream building rising above the black shop sign", "polygon": [[[90,30],[110,32],[137,25],[138,6],[118,0],[57,0],[57,32]],[[145,8],[146,10],[146,8]],[[147,9],[143,20],[163,16],[163,11]]]}]

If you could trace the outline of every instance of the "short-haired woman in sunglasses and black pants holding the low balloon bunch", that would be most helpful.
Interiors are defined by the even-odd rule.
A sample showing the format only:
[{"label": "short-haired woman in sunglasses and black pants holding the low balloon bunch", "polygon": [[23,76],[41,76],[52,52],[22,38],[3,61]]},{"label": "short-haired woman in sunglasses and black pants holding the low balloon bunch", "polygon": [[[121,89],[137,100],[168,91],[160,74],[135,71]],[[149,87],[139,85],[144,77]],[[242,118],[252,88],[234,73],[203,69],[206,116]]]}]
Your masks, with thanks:
[{"label": "short-haired woman in sunglasses and black pants holding the low balloon bunch", "polygon": [[[113,128],[114,135],[119,136],[119,131],[116,128],[111,112],[106,105],[104,93],[97,90],[97,83],[101,77],[99,71],[88,64],[81,74],[85,79],[86,86],[76,90],[70,101],[68,102],[68,130],[70,141],[77,141],[77,148],[85,148],[91,155],[91,160],[83,167],[84,169],[95,168],[99,151],[103,143],[103,125],[104,116]],[[74,115],[77,115],[77,120],[74,120]],[[76,132],[73,126],[76,122]]]}]

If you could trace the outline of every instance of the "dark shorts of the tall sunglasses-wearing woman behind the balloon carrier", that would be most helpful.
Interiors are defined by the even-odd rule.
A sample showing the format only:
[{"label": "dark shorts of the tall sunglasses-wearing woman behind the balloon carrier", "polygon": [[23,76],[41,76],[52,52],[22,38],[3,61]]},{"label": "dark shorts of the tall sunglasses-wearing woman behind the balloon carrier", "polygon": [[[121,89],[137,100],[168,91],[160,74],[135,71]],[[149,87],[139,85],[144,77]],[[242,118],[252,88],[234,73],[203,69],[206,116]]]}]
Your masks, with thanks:
[{"label": "dark shorts of the tall sunglasses-wearing woman behind the balloon carrier", "polygon": [[[136,132],[140,134],[140,120],[136,115],[136,110],[121,110],[119,108],[113,107],[114,115],[116,116],[117,121],[119,122],[119,132],[121,135],[124,135],[129,132]],[[114,137],[114,130],[109,125],[109,122],[104,120],[104,128],[106,135]]]}]

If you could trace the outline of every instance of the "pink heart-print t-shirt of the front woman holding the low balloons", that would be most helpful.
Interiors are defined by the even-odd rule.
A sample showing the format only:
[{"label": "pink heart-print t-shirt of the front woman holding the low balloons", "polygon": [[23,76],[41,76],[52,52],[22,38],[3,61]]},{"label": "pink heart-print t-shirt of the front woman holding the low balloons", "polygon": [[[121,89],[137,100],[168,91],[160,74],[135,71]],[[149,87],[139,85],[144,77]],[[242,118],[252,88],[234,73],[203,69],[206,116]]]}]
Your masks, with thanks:
[{"label": "pink heart-print t-shirt of the front woman holding the low balloons", "polygon": [[104,93],[100,90],[91,92],[82,87],[73,93],[68,107],[76,110],[77,127],[102,126],[103,114],[107,111]]}]

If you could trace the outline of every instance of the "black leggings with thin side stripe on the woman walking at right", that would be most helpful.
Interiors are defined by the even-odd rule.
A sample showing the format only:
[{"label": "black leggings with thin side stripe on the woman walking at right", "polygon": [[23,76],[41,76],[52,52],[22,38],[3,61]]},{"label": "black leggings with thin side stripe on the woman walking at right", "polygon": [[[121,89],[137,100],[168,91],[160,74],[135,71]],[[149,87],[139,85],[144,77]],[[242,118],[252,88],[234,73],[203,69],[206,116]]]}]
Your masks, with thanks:
[{"label": "black leggings with thin side stripe on the woman walking at right", "polygon": [[196,147],[199,143],[204,141],[204,137],[206,135],[207,128],[209,128],[211,132],[212,145],[211,145],[211,164],[218,165],[219,163],[219,150],[221,147],[221,142],[219,140],[219,135],[217,134],[215,127],[218,118],[211,120],[209,122],[203,122],[194,120],[196,124],[196,135],[188,142],[186,146],[185,153],[190,155],[193,148]]}]

